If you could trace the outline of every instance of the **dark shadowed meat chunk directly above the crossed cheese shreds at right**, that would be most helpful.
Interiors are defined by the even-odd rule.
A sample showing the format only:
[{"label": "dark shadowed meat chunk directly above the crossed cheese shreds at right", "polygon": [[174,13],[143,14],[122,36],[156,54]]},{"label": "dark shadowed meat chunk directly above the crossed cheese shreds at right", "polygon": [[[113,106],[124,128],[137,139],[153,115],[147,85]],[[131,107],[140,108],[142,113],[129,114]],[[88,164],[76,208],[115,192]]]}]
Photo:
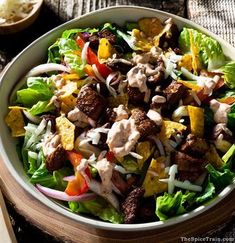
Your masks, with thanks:
[{"label": "dark shadowed meat chunk directly above the crossed cheese shreds at right", "polygon": [[194,158],[182,152],[175,152],[174,161],[178,165],[181,180],[196,180],[203,172],[204,159]]}]

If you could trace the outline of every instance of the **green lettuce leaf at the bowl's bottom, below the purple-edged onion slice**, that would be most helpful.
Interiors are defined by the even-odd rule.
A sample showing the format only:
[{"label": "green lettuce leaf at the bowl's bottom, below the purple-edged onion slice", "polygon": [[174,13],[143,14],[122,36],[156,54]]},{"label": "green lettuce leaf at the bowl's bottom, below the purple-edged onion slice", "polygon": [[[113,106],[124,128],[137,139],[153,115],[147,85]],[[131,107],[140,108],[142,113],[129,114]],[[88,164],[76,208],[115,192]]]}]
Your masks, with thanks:
[{"label": "green lettuce leaf at the bowl's bottom, below the purple-edged onion slice", "polygon": [[101,197],[90,201],[69,203],[69,208],[76,213],[90,213],[113,224],[121,224],[124,221],[123,215]]}]

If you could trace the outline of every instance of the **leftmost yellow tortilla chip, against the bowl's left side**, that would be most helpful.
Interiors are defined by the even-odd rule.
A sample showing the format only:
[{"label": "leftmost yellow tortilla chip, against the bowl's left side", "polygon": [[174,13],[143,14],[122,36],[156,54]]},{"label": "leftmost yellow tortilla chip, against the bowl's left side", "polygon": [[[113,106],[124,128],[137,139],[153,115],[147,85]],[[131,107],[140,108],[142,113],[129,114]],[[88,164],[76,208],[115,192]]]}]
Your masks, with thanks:
[{"label": "leftmost yellow tortilla chip, against the bowl's left side", "polygon": [[12,137],[21,137],[25,135],[25,124],[21,107],[11,107],[11,110],[5,118],[5,122],[7,126],[11,129]]}]

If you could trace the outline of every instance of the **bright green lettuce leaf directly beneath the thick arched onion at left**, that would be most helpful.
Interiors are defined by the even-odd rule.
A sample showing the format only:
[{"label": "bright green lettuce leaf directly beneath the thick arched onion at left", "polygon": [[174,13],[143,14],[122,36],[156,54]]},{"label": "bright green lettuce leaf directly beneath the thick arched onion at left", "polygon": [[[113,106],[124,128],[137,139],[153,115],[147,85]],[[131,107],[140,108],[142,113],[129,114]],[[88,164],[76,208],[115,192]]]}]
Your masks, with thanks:
[{"label": "bright green lettuce leaf directly beneath the thick arched onion at left", "polygon": [[32,106],[38,101],[49,100],[53,96],[53,91],[46,83],[44,78],[30,77],[27,79],[26,89],[17,91],[17,103],[21,103],[24,106]]}]

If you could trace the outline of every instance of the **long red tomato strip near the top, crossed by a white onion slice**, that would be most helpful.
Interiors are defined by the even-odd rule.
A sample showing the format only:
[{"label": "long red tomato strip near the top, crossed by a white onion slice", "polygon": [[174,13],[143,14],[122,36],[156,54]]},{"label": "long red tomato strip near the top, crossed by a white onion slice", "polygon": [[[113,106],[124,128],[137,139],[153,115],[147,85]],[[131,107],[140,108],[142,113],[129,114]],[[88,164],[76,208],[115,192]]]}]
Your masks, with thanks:
[{"label": "long red tomato strip near the top, crossed by a white onion slice", "polygon": [[[77,45],[81,49],[84,47],[85,42],[83,41],[83,39],[80,36],[77,37],[76,42],[77,42]],[[87,51],[87,62],[91,65],[95,64],[97,70],[104,78],[107,78],[108,75],[112,72],[111,68],[109,68],[107,65],[99,62],[97,55],[89,47],[88,47],[88,51]]]}]

